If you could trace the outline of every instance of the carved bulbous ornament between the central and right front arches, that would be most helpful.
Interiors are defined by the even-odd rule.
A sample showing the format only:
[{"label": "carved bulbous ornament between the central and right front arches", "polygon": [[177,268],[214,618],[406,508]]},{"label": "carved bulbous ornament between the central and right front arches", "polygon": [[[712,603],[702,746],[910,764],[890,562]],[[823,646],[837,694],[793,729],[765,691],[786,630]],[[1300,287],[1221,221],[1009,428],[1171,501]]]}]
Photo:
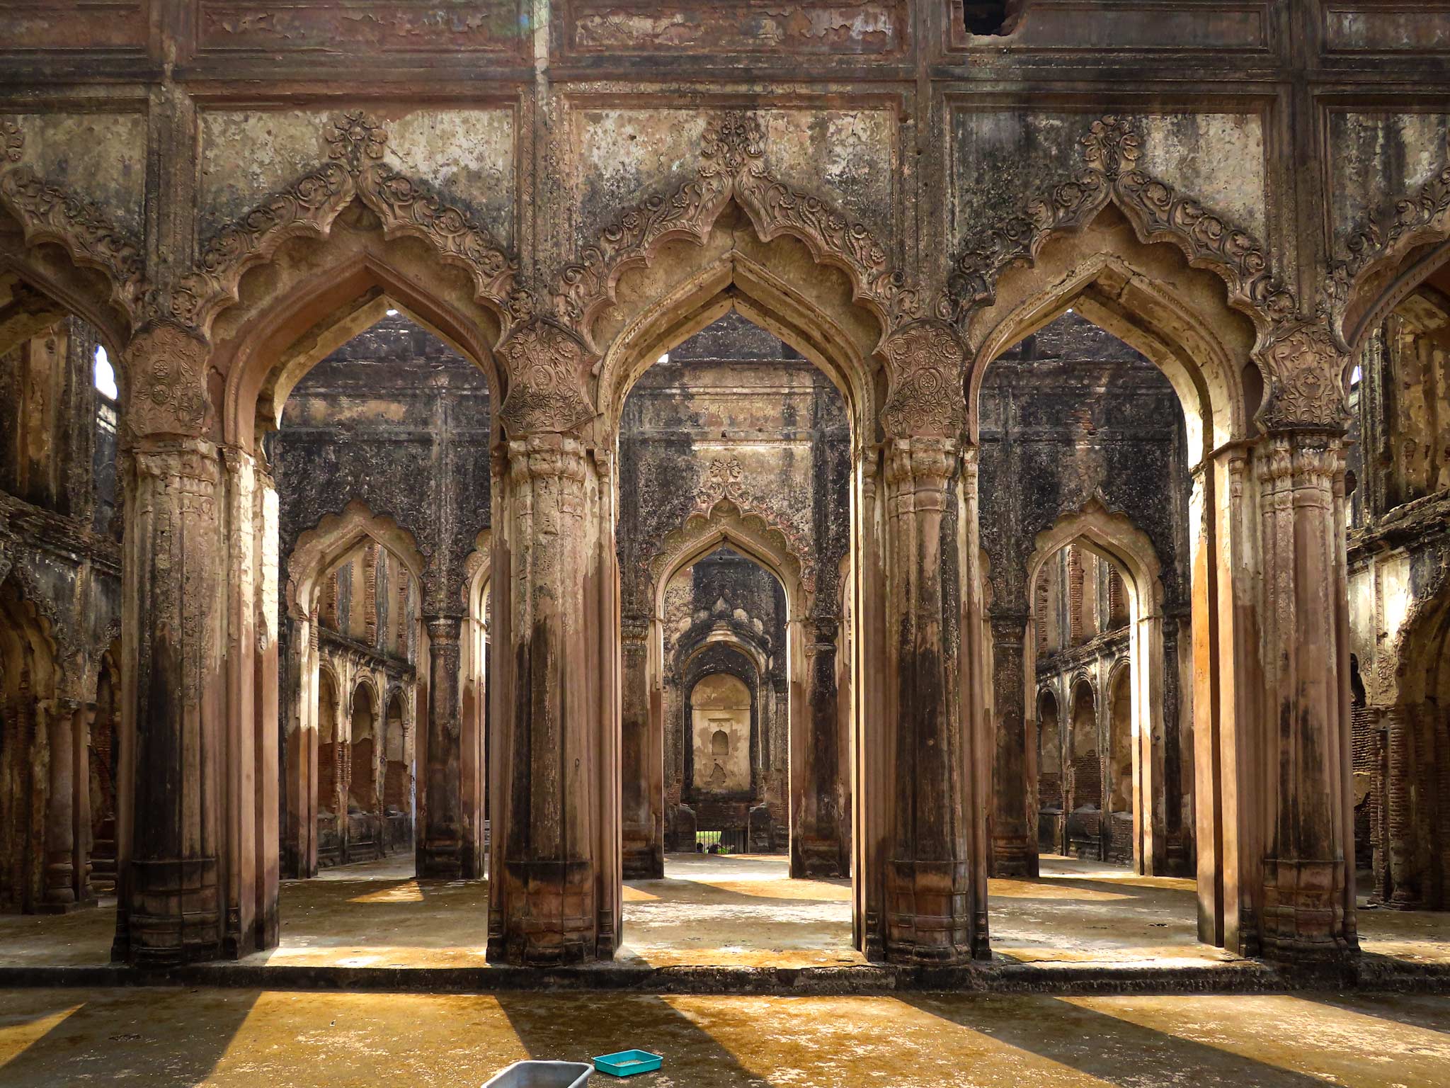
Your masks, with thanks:
[{"label": "carved bulbous ornament between the central and right front arches", "polygon": [[916,322],[883,345],[890,389],[882,428],[893,438],[957,435],[966,418],[966,351],[945,322]]}]

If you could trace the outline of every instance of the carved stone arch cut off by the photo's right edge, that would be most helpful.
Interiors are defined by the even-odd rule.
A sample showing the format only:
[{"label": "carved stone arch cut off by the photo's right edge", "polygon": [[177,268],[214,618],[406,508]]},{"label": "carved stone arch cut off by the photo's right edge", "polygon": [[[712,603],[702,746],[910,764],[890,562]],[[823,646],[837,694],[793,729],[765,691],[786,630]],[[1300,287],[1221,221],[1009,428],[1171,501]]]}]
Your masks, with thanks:
[{"label": "carved stone arch cut off by the photo's right edge", "polygon": [[1430,177],[1370,210],[1331,273],[1340,297],[1335,331],[1357,355],[1369,331],[1450,261],[1450,133]]}]

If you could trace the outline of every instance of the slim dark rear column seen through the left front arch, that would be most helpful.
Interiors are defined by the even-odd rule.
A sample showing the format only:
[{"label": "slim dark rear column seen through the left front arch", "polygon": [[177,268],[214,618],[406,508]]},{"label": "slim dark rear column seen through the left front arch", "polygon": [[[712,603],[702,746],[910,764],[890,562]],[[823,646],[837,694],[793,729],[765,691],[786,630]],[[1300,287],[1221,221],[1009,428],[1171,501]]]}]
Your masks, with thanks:
[{"label": "slim dark rear column seen through the left front arch", "polygon": [[423,778],[418,875],[463,876],[463,746],[458,634],[461,617],[423,617],[428,627],[428,767]]}]

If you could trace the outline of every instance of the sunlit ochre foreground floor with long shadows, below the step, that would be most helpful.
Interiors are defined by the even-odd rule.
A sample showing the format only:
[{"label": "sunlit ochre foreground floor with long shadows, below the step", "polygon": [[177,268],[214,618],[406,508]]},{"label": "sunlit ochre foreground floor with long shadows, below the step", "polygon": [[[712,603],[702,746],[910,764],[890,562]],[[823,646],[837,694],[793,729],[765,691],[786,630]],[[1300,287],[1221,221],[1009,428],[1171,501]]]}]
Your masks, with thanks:
[{"label": "sunlit ochre foreground floor with long shadows, below the step", "polygon": [[7,1088],[461,1088],[632,1046],[666,1059],[634,1088],[1443,1088],[1450,998],[0,994]]}]

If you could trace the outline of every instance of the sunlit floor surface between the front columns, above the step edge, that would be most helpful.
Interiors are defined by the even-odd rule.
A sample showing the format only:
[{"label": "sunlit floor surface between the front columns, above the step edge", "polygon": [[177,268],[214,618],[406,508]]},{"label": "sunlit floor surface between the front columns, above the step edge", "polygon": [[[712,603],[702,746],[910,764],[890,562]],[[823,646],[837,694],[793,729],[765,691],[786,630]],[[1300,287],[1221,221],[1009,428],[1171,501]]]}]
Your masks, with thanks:
[{"label": "sunlit floor surface between the front columns, above the step edge", "polygon": [[[851,949],[848,881],[790,881],[777,856],[671,856],[663,881],[625,886],[619,965],[828,966],[861,963]],[[1195,939],[1192,881],[1043,859],[1035,881],[992,881],[992,947],[1041,966],[1224,965],[1235,957]],[[484,882],[416,881],[399,856],[323,870],[281,889],[281,944],[255,965],[483,966]],[[1450,914],[1364,910],[1362,949],[1450,963]],[[115,904],[70,915],[0,917],[0,968],[100,965]],[[1241,962],[1241,960],[1240,960]]]}]

